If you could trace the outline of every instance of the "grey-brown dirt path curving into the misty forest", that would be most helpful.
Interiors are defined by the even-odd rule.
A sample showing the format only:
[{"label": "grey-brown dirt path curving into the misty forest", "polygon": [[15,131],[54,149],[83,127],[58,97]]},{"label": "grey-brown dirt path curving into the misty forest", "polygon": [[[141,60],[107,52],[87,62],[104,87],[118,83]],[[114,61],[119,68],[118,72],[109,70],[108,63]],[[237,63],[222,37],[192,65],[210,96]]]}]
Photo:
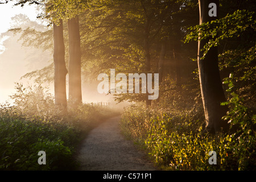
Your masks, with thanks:
[{"label": "grey-brown dirt path curving into the misty forest", "polygon": [[120,117],[108,119],[96,127],[82,143],[77,159],[83,171],[153,171],[156,167],[126,140],[119,129]]}]

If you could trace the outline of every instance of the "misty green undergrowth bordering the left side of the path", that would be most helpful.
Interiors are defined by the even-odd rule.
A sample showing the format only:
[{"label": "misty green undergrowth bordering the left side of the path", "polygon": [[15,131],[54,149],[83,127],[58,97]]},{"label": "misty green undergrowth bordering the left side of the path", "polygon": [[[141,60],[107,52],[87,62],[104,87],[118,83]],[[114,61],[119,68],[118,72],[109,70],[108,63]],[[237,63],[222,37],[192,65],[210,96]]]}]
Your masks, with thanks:
[{"label": "misty green undergrowth bordering the left side of the path", "polygon": [[[42,85],[16,84],[14,104],[0,107],[0,170],[72,170],[85,134],[112,112],[91,105],[63,113]],[[38,152],[46,152],[46,165]]]}]

